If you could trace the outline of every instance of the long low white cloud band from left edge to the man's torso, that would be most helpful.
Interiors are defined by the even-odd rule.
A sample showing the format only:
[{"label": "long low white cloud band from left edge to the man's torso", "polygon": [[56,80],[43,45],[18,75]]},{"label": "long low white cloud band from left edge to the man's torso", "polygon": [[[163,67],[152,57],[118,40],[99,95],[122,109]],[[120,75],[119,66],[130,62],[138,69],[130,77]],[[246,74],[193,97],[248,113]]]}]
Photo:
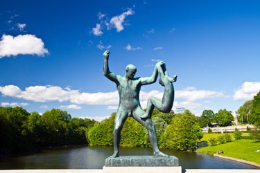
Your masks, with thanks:
[{"label": "long low white cloud band from left edge to the man's torso", "polygon": [[3,96],[21,98],[34,102],[69,101],[74,104],[110,105],[118,104],[119,94],[117,91],[109,93],[80,93],[78,90],[62,89],[60,86],[29,86],[21,91],[18,86],[0,86]]}]

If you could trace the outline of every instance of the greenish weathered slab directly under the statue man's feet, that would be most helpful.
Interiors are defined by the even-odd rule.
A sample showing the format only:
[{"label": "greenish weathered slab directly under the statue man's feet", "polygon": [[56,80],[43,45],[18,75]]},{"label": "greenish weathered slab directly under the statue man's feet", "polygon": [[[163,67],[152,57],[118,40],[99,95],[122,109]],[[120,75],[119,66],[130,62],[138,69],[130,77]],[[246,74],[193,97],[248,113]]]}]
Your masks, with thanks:
[{"label": "greenish weathered slab directly under the statue man's feet", "polygon": [[179,159],[175,156],[119,156],[105,159],[106,167],[174,167],[179,166]]}]

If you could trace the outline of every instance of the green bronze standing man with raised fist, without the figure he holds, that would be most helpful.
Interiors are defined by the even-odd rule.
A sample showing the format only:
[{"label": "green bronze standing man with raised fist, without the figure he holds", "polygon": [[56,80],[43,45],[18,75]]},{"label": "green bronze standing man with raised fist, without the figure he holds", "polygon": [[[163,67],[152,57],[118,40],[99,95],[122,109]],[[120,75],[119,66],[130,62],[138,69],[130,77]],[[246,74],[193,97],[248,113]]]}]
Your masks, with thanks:
[{"label": "green bronze standing man with raised fist, without the figure he holds", "polygon": [[[156,82],[158,71],[157,67],[153,71],[153,74],[148,78],[134,78],[135,73],[137,73],[137,68],[129,64],[126,66],[125,75],[116,75],[112,73],[108,67],[108,57],[110,51],[105,51],[104,56],[104,66],[103,73],[112,82],[116,83],[116,88],[119,91],[119,107],[116,111],[116,117],[114,119],[114,131],[113,131],[113,140],[114,140],[114,154],[112,157],[119,156],[119,143],[121,138],[121,130],[123,128],[123,123],[125,122],[128,116],[132,116],[137,122],[144,125],[148,129],[150,143],[153,147],[154,156],[168,156],[163,152],[159,151],[157,135],[155,131],[155,125],[150,118],[145,120],[141,119],[141,116],[144,115],[145,111],[141,109],[139,102],[139,93],[142,85],[152,84]],[[162,62],[158,62],[162,65]]]}]

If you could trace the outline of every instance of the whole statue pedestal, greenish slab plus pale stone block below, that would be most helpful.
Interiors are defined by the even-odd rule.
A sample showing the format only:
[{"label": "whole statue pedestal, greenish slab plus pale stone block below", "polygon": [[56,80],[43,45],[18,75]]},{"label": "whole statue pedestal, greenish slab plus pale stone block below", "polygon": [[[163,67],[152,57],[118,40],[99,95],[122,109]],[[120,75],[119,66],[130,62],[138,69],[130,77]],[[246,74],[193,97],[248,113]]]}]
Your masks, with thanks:
[{"label": "whole statue pedestal, greenish slab plus pale stone block below", "polygon": [[103,173],[181,173],[182,167],[175,156],[120,156],[105,159]]}]

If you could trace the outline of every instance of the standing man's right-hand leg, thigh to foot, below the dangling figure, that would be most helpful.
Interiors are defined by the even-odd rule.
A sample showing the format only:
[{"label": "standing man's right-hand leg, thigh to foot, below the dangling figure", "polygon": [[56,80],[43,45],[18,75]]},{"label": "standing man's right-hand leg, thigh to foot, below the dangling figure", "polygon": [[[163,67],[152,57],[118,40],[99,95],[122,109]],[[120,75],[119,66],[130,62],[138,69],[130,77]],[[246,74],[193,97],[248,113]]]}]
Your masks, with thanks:
[{"label": "standing man's right-hand leg, thigh to foot, below the dangling figure", "polygon": [[163,152],[161,152],[159,150],[155,125],[154,125],[153,121],[151,120],[151,118],[148,118],[146,120],[141,120],[140,116],[144,115],[144,113],[145,113],[144,110],[141,109],[141,107],[138,107],[133,112],[133,117],[135,118],[135,120],[137,120],[137,122],[141,123],[141,125],[144,125],[144,127],[146,127],[146,129],[148,129],[150,144],[153,147],[153,155],[154,156],[168,156],[167,154],[164,154]]}]

